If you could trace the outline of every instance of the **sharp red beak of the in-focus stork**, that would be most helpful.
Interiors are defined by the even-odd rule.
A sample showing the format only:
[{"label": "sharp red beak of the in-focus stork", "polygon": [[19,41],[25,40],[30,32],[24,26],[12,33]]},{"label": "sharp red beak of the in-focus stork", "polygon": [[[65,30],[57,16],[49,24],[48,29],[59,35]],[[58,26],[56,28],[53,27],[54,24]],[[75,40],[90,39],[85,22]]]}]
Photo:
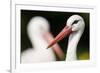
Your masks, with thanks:
[{"label": "sharp red beak of the in-focus stork", "polygon": [[54,38],[54,40],[48,45],[47,48],[50,48],[53,46],[55,43],[59,42],[66,36],[68,36],[72,32],[72,27],[71,26],[65,26],[64,29]]}]

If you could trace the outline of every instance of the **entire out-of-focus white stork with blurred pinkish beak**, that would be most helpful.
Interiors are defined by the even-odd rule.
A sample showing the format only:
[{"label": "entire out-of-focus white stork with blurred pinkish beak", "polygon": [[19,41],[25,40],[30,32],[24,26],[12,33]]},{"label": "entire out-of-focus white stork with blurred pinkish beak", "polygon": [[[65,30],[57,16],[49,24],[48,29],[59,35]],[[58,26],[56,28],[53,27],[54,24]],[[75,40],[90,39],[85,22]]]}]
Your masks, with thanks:
[{"label": "entire out-of-focus white stork with blurred pinkish beak", "polygon": [[52,49],[46,49],[53,40],[49,29],[49,22],[44,17],[35,16],[30,20],[27,34],[34,48],[21,54],[21,63],[56,61],[56,55],[61,60],[64,59],[64,53],[58,44],[55,44]]}]

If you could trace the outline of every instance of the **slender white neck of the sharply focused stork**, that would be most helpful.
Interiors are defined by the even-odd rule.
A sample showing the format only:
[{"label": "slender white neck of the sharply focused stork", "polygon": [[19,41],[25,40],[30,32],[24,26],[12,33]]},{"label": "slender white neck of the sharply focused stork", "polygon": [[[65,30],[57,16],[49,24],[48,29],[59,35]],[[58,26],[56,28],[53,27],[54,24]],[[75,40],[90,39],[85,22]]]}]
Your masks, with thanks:
[{"label": "slender white neck of the sharply focused stork", "polygon": [[80,37],[82,35],[82,32],[74,32],[69,36],[69,41],[68,41],[68,49],[67,49],[67,58],[66,60],[76,60],[77,59],[77,45],[80,40]]}]

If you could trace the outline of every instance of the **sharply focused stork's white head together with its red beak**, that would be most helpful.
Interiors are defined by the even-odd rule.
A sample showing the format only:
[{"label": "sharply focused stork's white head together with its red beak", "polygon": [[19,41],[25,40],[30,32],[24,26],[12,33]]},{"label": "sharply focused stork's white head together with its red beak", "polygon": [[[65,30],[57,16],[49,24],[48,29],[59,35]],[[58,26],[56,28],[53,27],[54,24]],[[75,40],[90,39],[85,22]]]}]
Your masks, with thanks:
[{"label": "sharply focused stork's white head together with its red beak", "polygon": [[48,45],[47,48],[53,46],[55,43],[62,40],[64,37],[72,34],[73,32],[83,32],[85,27],[84,20],[79,15],[72,15],[67,20],[66,26],[64,29],[55,37],[55,39]]}]

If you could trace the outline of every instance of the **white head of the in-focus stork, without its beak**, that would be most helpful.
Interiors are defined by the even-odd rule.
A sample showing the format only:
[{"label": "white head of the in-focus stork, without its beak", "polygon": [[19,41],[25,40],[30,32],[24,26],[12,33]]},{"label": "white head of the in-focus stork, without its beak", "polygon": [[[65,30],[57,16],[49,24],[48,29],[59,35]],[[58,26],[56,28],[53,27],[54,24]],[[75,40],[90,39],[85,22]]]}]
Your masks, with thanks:
[{"label": "white head of the in-focus stork, without its beak", "polygon": [[66,26],[71,27],[72,31],[83,31],[85,27],[84,20],[81,16],[79,15],[72,15],[69,17],[67,20]]}]

